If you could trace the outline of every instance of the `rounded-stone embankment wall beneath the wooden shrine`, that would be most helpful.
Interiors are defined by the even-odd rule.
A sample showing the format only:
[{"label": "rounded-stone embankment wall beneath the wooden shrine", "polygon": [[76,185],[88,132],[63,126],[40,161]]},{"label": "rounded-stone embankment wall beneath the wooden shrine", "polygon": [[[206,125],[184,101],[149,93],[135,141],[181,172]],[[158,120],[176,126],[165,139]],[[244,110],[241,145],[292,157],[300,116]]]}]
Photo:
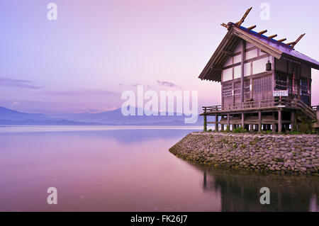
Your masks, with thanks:
[{"label": "rounded-stone embankment wall beneath the wooden shrine", "polygon": [[192,162],[267,173],[319,172],[318,135],[192,132],[170,152]]}]

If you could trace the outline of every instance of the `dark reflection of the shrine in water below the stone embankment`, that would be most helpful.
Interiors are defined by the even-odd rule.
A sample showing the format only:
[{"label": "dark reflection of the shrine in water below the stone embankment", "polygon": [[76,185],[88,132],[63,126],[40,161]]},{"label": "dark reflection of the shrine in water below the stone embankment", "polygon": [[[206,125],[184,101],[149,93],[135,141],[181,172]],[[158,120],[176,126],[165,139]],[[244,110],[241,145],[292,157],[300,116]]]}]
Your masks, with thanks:
[{"label": "dark reflection of the shrine in water below the stone embankment", "polygon": [[[319,211],[319,180],[310,176],[263,176],[203,170],[203,191],[220,191],[223,211]],[[260,188],[270,189],[270,205],[262,205]]]}]

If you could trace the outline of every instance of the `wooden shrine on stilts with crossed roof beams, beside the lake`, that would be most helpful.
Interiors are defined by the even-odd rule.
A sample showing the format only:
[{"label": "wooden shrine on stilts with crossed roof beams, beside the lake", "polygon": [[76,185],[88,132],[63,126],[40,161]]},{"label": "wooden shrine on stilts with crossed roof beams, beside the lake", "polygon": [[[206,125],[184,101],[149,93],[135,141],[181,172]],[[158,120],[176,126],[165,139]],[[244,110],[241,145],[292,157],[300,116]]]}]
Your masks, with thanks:
[{"label": "wooden shrine on stilts with crossed roof beams, beside the lake", "polygon": [[[242,25],[252,8],[228,29],[216,52],[199,75],[202,80],[221,83],[221,105],[203,107],[204,130],[242,127],[247,130],[296,130],[317,121],[317,106],[311,106],[311,69],[319,62],[297,52],[303,38],[284,43],[267,30]],[[216,120],[208,121],[208,116]]]}]

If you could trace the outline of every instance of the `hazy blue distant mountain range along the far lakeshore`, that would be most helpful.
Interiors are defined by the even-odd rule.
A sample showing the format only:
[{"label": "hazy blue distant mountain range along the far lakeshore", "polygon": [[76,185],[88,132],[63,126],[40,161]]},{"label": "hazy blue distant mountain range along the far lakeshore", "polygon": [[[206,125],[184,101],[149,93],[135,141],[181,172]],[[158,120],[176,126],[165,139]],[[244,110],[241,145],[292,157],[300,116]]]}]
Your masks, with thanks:
[{"label": "hazy blue distant mountain range along the far lakeshore", "polygon": [[[137,108],[135,108],[135,112]],[[197,123],[186,124],[186,115],[129,115],[124,116],[121,108],[102,113],[75,113],[62,115],[44,115],[38,113],[22,113],[0,107],[0,125],[203,125],[203,118],[198,116]]]}]

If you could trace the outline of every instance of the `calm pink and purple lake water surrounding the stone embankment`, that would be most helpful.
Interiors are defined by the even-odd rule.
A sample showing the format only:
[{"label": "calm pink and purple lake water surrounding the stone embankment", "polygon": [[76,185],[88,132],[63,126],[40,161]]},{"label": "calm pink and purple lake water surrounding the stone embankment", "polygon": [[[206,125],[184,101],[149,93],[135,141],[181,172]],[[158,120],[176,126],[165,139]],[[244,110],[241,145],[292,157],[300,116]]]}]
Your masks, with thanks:
[{"label": "calm pink and purple lake water surrounding the stone embankment", "polygon": [[[194,128],[1,127],[1,211],[318,211],[318,176],[211,169],[168,149]],[[57,188],[57,205],[47,188]],[[270,205],[259,189],[270,189]]]}]

